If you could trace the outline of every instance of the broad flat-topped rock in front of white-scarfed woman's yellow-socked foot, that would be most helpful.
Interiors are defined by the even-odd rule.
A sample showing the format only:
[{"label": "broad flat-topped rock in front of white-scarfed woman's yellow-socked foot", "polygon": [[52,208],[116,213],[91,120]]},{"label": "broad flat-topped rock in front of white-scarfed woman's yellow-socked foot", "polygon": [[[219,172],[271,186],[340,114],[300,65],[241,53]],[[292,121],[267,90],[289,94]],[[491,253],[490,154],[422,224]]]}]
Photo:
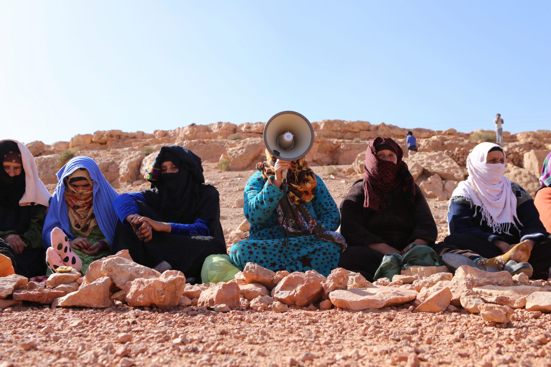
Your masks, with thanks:
[{"label": "broad flat-topped rock in front of white-scarfed woman's yellow-socked foot", "polygon": [[495,303],[511,308],[524,307],[526,305],[526,297],[534,292],[543,291],[547,293],[543,288],[530,286],[500,287],[489,285],[474,287],[473,291],[487,303]]}]

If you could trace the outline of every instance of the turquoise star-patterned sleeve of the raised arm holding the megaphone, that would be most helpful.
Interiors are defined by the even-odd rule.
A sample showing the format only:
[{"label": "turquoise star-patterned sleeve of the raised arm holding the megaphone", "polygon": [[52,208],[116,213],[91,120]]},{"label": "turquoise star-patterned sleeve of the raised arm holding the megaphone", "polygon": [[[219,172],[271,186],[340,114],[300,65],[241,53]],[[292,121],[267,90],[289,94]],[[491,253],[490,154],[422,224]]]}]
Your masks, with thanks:
[{"label": "turquoise star-patterned sleeve of the raised arm holding the megaphone", "polygon": [[283,190],[273,185],[272,179],[264,183],[262,174],[256,172],[245,184],[243,213],[251,224],[266,222],[283,197]]}]

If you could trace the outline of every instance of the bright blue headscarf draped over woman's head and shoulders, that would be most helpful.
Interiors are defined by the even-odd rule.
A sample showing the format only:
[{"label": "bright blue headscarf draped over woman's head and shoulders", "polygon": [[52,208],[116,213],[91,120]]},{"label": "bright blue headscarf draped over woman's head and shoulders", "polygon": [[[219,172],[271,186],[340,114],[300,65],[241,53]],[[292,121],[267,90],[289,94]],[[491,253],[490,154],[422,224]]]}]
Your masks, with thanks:
[{"label": "bright blue headscarf draped over woman's head and shoulders", "polygon": [[87,169],[90,174],[93,181],[94,214],[101,232],[110,244],[113,243],[118,218],[115,210],[113,210],[112,202],[118,196],[118,193],[107,182],[100,171],[100,167],[98,167],[98,163],[90,157],[78,156],[67,162],[57,172],[56,190],[53,191],[52,199],[50,199],[50,209],[46,214],[44,228],[42,229],[42,244],[45,248],[48,248],[51,244],[50,233],[55,227],[61,228],[69,239],[74,239],[63,194],[65,193],[65,178],[79,168]]}]

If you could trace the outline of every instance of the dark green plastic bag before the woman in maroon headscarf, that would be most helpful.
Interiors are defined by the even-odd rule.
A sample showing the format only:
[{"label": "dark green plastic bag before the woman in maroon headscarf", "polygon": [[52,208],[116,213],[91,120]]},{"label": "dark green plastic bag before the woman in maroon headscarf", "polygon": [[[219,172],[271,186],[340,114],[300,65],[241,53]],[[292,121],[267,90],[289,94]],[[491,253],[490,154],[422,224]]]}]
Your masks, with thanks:
[{"label": "dark green plastic bag before the woman in maroon headscarf", "polygon": [[436,255],[432,248],[412,244],[402,256],[398,254],[385,255],[382,258],[379,269],[375,273],[374,279],[388,278],[392,280],[393,276],[398,275],[402,270],[406,270],[412,265],[442,266],[444,262],[440,259],[440,256]]}]

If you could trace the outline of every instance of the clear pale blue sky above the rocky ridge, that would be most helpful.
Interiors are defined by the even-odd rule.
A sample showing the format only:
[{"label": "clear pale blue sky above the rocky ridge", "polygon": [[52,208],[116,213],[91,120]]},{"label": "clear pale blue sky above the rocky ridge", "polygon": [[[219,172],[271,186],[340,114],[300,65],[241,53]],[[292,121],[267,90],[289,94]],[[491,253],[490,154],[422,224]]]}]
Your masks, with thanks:
[{"label": "clear pale blue sky above the rocky ridge", "polygon": [[0,0],[0,138],[265,122],[551,129],[547,1]]}]

